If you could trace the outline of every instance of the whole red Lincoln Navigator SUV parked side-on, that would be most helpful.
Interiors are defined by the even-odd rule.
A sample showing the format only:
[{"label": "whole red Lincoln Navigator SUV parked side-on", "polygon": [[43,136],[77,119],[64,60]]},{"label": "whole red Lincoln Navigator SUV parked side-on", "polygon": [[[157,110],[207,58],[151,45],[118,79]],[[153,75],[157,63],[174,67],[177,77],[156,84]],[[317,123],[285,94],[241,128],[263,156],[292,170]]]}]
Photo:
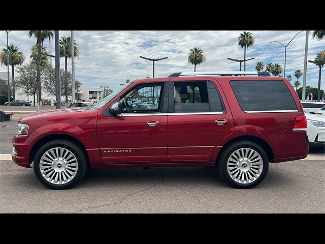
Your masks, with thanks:
[{"label": "whole red Lincoln Navigator SUV parked side-on", "polygon": [[[140,105],[140,106],[138,106]],[[86,110],[23,116],[12,159],[52,189],[91,168],[216,166],[252,188],[269,162],[306,158],[306,117],[288,80],[265,72],[175,73],[136,80]]]}]

